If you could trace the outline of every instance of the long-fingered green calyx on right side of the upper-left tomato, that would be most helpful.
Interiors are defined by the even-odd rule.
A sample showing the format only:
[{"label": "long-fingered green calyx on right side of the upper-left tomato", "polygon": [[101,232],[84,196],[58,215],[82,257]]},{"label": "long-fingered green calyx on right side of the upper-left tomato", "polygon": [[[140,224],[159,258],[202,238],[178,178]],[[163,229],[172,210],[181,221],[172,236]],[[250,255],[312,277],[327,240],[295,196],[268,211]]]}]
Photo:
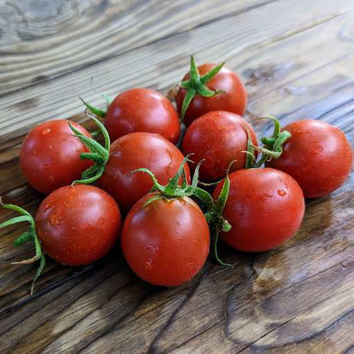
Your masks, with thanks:
[{"label": "long-fingered green calyx on right side of the upper-left tomato", "polygon": [[81,160],[94,161],[94,165],[83,171],[83,174],[81,174],[81,180],[74,180],[71,185],[76,185],[79,183],[89,184],[99,179],[103,174],[108,159],[110,158],[110,137],[108,135],[108,131],[103,126],[101,121],[99,121],[99,119],[96,119],[92,116],[90,117],[94,120],[96,125],[99,127],[99,130],[103,134],[105,146],[103,147],[101,144],[96,142],[96,140],[93,140],[91,137],[83,135],[83,133],[79,132],[76,128],[74,128],[74,126],[69,123],[69,126],[73,131],[74,136],[77,137],[90,151],[88,153],[81,153]]}]

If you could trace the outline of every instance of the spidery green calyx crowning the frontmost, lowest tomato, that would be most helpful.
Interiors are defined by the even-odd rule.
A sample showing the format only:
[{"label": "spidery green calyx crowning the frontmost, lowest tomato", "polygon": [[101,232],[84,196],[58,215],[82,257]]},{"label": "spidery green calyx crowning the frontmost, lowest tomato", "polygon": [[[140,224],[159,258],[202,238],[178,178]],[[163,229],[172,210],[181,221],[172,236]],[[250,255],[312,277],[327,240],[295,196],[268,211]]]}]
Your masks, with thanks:
[{"label": "spidery green calyx crowning the frontmost, lowest tomato", "polygon": [[[185,164],[189,161],[191,162],[188,158],[190,155],[187,155],[184,159],[183,162],[180,164],[180,167],[178,167],[178,171],[176,175],[172,178],[169,179],[169,183],[167,185],[160,185],[158,183],[158,180],[155,178],[154,174],[149,170],[145,168],[141,169],[135,169],[131,171],[131,174],[135,174],[136,172],[144,172],[146,174],[149,174],[151,179],[153,180],[153,191],[158,191],[159,193],[156,194],[155,196],[152,196],[146,203],[144,204],[144,207],[146,205],[149,205],[150,203],[153,203],[153,201],[158,200],[158,199],[176,199],[176,198],[183,198],[184,196],[196,196],[196,198],[200,199],[205,203],[206,207],[208,210],[212,210],[214,201],[212,200],[212,196],[208,192],[205,192],[204,189],[201,189],[198,187],[198,178],[199,178],[199,167],[201,166],[201,162],[196,166],[194,176],[192,179],[192,184],[189,185],[187,183],[187,177],[185,176]],[[183,178],[182,185],[178,184],[178,180],[180,178]]]}]

